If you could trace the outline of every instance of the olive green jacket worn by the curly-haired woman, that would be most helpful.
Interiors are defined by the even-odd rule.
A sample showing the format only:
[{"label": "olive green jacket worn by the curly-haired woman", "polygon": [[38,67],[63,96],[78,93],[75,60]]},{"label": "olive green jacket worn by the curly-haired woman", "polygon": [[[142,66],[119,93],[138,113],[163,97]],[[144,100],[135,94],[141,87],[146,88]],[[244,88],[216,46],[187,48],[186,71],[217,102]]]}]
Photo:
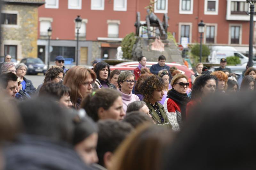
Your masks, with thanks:
[{"label": "olive green jacket worn by the curly-haired woman", "polygon": [[164,111],[164,106],[161,105],[160,103],[156,102],[157,105],[159,106],[159,111],[160,111],[160,114],[162,115],[162,117],[164,118],[164,123],[161,123],[161,119],[160,117],[158,116],[158,114],[156,113],[155,109],[151,106],[151,104],[147,101],[146,102],[146,105],[148,106],[148,109],[149,109],[149,114],[152,116],[152,119],[154,120],[154,122],[158,125],[164,125],[166,127],[169,127],[169,128],[172,128],[172,125],[171,123],[169,122],[166,114],[165,114],[165,111]]}]

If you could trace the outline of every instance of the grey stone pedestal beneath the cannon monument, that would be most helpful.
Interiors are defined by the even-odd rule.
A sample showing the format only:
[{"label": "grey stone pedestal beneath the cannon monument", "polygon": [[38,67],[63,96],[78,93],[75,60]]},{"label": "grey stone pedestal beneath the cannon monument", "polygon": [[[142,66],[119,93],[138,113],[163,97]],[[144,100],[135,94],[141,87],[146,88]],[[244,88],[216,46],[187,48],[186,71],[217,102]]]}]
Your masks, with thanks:
[{"label": "grey stone pedestal beneath the cannon monument", "polygon": [[157,62],[158,57],[164,55],[167,63],[176,62],[182,65],[184,64],[181,51],[175,46],[173,41],[161,40],[164,43],[164,51],[151,50],[151,44],[154,41],[139,37],[132,48],[133,60],[137,61],[140,56],[145,56],[147,57],[147,61]]}]

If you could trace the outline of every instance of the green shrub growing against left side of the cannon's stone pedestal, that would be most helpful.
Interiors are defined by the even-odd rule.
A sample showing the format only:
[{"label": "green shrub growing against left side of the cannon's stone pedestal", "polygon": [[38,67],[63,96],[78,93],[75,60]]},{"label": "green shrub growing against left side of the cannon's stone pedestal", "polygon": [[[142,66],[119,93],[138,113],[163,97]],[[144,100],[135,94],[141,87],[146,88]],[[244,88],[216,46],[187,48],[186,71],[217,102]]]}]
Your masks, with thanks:
[{"label": "green shrub growing against left side of the cannon's stone pedestal", "polygon": [[121,42],[124,59],[132,59],[132,47],[135,44],[137,38],[134,33],[127,34]]}]

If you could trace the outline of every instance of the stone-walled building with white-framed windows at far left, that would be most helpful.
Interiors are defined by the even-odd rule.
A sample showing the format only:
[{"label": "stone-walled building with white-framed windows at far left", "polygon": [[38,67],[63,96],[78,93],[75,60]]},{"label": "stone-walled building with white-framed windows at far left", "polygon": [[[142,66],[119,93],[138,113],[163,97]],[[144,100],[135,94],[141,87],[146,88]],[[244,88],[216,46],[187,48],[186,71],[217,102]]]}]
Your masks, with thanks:
[{"label": "stone-walled building with white-framed windows at far left", "polygon": [[38,6],[44,0],[4,0],[1,11],[1,56],[37,57]]}]

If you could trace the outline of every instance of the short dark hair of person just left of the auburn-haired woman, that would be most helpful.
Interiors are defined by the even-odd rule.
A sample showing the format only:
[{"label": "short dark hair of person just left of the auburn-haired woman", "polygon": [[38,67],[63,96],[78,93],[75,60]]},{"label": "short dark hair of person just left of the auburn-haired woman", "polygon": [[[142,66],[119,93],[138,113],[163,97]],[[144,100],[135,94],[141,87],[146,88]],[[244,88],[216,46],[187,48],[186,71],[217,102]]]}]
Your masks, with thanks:
[{"label": "short dark hair of person just left of the auburn-haired woman", "polygon": [[39,96],[52,96],[58,100],[64,95],[69,95],[70,88],[63,85],[60,81],[59,83],[46,82],[42,85],[39,91]]}]

